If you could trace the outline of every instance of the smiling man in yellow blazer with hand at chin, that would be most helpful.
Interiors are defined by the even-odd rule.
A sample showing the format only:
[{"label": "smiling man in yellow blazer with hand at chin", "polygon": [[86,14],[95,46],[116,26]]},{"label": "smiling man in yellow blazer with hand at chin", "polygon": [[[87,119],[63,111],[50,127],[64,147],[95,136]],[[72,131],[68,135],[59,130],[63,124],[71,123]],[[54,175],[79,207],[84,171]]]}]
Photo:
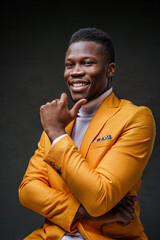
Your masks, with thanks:
[{"label": "smiling man in yellow blazer with hand at chin", "polygon": [[155,123],[148,108],[114,95],[114,72],[108,34],[72,35],[64,79],[75,105],[69,110],[63,93],[40,108],[44,132],[19,196],[46,221],[26,240],[147,239],[136,196]]}]

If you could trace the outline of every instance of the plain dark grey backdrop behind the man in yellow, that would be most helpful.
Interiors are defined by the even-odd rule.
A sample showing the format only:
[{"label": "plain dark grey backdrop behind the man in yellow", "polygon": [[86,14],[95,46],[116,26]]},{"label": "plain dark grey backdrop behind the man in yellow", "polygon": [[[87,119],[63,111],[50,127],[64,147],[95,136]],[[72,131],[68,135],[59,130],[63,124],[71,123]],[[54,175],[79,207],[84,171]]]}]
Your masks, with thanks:
[{"label": "plain dark grey backdrop behind the man in yellow", "polygon": [[[0,238],[20,240],[43,217],[18,200],[42,128],[39,107],[66,91],[64,54],[70,35],[97,27],[113,39],[120,98],[148,106],[157,124],[153,154],[139,194],[149,239],[160,235],[160,8],[159,1],[12,1],[1,3],[0,36]],[[71,103],[70,103],[71,105]]]}]

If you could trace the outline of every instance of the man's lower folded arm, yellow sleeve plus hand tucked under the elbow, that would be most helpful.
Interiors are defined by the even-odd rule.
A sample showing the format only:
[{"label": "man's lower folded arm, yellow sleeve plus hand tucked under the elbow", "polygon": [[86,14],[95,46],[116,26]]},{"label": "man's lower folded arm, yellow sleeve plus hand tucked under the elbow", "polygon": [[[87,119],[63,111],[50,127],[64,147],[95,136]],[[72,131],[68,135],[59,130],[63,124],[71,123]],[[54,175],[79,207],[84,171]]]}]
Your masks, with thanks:
[{"label": "man's lower folded arm, yellow sleeve plus hand tucked under the elbow", "polygon": [[105,221],[107,223],[116,221],[125,225],[128,224],[133,218],[134,198],[131,201],[129,197],[125,197],[111,211],[101,217],[94,218],[87,213],[82,205],[79,207],[80,203],[71,193],[58,191],[49,186],[46,164],[43,161],[45,137],[46,134],[43,133],[38,144],[38,150],[31,158],[20,185],[19,197],[21,204],[47,217],[67,231],[73,230],[73,223],[76,225],[76,222],[82,219]]}]

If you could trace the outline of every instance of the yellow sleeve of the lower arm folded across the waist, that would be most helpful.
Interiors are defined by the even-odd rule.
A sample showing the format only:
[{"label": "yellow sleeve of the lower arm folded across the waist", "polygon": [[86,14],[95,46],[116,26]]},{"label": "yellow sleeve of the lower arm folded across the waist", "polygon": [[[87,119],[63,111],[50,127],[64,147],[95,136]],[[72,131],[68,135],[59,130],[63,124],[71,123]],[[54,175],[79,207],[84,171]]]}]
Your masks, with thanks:
[{"label": "yellow sleeve of the lower arm folded across the waist", "polygon": [[[73,219],[80,206],[71,192],[51,188],[47,164],[43,161],[45,133],[38,149],[31,158],[23,181],[19,187],[19,199],[23,206],[48,218],[66,231],[74,231]],[[57,173],[56,173],[57,174]],[[60,177],[57,174],[57,177]]]}]

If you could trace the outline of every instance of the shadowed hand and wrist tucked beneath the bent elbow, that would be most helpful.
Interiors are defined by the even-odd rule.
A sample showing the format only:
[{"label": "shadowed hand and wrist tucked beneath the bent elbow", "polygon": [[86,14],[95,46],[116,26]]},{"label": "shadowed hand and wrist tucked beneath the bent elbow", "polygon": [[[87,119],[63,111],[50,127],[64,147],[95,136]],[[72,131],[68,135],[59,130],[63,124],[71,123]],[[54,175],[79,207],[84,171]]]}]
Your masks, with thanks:
[{"label": "shadowed hand and wrist tucked beneath the bent elbow", "polygon": [[134,216],[134,202],[137,201],[137,197],[126,195],[114,208],[100,217],[90,216],[85,208],[81,205],[75,220],[92,220],[102,221],[106,223],[117,222],[121,225],[127,225],[131,222]]}]

